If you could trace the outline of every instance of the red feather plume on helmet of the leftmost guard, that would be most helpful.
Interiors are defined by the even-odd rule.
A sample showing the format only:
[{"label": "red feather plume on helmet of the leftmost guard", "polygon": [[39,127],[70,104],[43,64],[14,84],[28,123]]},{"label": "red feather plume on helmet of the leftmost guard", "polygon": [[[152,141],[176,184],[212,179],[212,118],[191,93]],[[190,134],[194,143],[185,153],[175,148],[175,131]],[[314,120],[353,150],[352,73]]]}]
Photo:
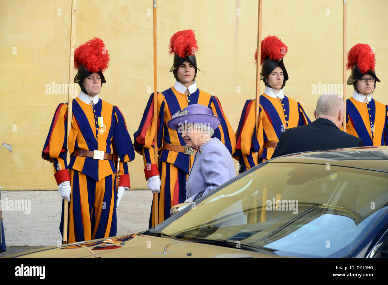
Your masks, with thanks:
[{"label": "red feather plume on helmet of the leftmost guard", "polygon": [[74,67],[83,65],[91,72],[104,72],[108,68],[109,53],[102,39],[93,38],[74,50]]}]

